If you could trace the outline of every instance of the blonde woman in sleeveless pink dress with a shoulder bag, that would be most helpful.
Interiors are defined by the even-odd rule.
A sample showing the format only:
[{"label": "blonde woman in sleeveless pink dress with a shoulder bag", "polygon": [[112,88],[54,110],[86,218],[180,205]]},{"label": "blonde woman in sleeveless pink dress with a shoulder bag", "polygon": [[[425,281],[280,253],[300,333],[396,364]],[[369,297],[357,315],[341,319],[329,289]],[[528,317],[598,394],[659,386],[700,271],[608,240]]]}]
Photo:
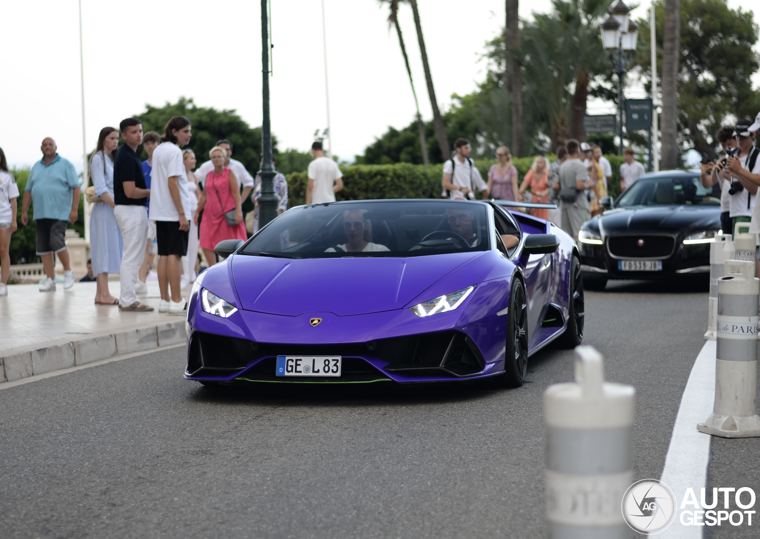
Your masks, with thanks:
[{"label": "blonde woman in sleeveless pink dress with a shoulder bag", "polygon": [[[201,249],[209,266],[216,263],[217,255],[214,247],[222,240],[245,240],[245,223],[242,222],[242,206],[240,203],[240,186],[235,173],[224,166],[227,152],[224,148],[215,146],[208,153],[214,170],[208,173],[204,182],[201,200],[195,210],[193,221],[198,224],[198,215],[204,210],[201,221]],[[224,214],[235,210],[235,225],[227,224]]]}]

